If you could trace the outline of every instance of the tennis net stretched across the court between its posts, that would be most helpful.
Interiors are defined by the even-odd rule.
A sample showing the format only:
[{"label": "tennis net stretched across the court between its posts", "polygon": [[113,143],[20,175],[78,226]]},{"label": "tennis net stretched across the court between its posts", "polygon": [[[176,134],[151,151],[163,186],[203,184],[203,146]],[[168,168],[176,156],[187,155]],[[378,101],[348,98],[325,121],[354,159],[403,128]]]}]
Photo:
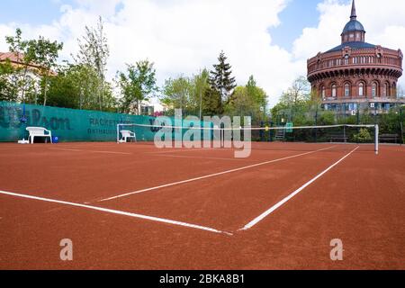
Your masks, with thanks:
[{"label": "tennis net stretched across the court between its posts", "polygon": [[[165,141],[166,147],[171,145],[175,148],[233,148],[233,143],[237,141],[250,141],[253,149],[293,149],[294,146],[288,146],[288,143],[340,143],[362,144],[375,152],[379,150],[378,125],[220,128],[210,123],[209,127],[206,126],[118,124],[117,142],[157,144]],[[304,146],[295,147],[302,149]]]}]

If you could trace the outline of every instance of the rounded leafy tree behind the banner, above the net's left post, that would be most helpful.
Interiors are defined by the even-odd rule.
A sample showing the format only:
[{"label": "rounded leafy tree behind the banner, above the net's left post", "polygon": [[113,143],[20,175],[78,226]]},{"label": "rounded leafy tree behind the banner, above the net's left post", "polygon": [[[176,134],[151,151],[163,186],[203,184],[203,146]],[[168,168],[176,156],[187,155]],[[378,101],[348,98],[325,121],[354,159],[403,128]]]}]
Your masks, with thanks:
[{"label": "rounded leafy tree behind the banner, above the net's left post", "polygon": [[153,66],[153,63],[143,60],[137,62],[135,66],[127,65],[127,74],[117,73],[116,82],[121,89],[123,112],[135,109],[140,114],[140,104],[148,100],[148,94],[157,91],[156,70]]}]

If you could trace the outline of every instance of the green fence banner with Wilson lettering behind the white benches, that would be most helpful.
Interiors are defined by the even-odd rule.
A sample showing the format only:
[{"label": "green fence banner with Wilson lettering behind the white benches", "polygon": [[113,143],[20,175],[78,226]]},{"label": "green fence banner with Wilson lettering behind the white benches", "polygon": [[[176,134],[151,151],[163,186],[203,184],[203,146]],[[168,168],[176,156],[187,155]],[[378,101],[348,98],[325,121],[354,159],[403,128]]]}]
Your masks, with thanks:
[{"label": "green fence banner with Wilson lettering behind the white benches", "polygon": [[[21,121],[24,114],[26,123]],[[115,141],[117,124],[151,125],[154,120],[149,116],[0,102],[0,141],[27,139],[25,128],[30,126],[51,130],[59,141]],[[142,138],[152,140],[155,132],[148,130]]]}]

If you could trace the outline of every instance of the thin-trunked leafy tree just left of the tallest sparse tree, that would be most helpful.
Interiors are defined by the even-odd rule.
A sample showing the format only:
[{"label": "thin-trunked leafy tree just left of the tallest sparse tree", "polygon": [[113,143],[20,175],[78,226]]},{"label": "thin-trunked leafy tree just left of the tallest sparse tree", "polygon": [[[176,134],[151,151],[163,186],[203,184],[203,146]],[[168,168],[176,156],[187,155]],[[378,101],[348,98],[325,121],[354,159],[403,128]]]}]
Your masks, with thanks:
[{"label": "thin-trunked leafy tree just left of the tallest sparse tree", "polygon": [[63,43],[51,42],[40,37],[33,44],[35,46],[35,64],[40,67],[43,76],[43,105],[46,106],[49,74],[53,68],[57,67],[58,51],[63,49]]}]

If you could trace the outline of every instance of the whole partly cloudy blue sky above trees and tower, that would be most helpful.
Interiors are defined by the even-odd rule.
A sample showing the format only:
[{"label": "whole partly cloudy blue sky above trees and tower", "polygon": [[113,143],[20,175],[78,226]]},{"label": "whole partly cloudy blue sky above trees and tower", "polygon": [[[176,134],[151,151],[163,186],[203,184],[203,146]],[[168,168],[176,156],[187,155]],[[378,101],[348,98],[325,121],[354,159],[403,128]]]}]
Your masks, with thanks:
[{"label": "whole partly cloudy blue sky above trees and tower", "polygon": [[[0,0],[0,51],[23,30],[64,43],[60,60],[76,54],[85,25],[103,17],[111,56],[108,78],[126,64],[148,58],[157,84],[167,77],[192,76],[211,69],[223,50],[238,85],[253,75],[277,103],[306,62],[340,44],[351,0]],[[383,5],[383,9],[382,9]],[[366,41],[405,50],[405,1],[356,0],[357,20]],[[400,85],[405,86],[402,77]]]}]

